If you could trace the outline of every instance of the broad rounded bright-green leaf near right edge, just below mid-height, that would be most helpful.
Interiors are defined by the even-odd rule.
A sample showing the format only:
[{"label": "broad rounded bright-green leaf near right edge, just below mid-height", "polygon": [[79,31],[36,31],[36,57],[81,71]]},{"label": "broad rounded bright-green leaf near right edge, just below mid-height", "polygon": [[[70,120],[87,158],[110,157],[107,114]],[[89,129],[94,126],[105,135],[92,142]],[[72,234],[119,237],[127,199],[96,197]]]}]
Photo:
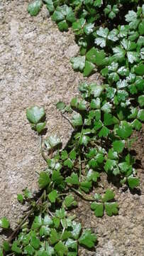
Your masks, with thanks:
[{"label": "broad rounded bright-green leaf near right edge, just below mid-height", "polygon": [[121,125],[116,130],[116,134],[118,134],[121,139],[127,139],[131,136],[132,132],[133,128],[131,127],[131,124],[126,121],[122,121]]}]

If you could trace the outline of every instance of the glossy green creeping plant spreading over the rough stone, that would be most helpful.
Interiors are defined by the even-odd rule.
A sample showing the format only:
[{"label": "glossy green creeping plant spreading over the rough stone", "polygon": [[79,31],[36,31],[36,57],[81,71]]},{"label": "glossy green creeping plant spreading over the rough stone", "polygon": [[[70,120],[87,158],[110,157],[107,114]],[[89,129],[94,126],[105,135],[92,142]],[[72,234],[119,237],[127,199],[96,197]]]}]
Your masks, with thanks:
[{"label": "glossy green creeping plant spreading over the rough stone", "polygon": [[[57,111],[73,127],[65,149],[56,136],[43,141],[44,108],[28,108],[26,117],[39,136],[48,167],[40,172],[37,195],[28,188],[18,194],[20,203],[28,202],[28,212],[1,245],[0,255],[73,256],[79,254],[79,245],[91,249],[96,234],[83,229],[71,213],[77,196],[89,201],[89,210],[97,218],[111,217],[118,214],[118,202],[111,189],[96,192],[101,172],[131,190],[140,183],[131,135],[144,121],[143,1],[35,0],[28,12],[36,16],[43,4],[60,31],[72,26],[79,45],[79,55],[70,60],[74,70],[87,77],[97,69],[104,84],[84,82],[70,105],[57,102]],[[1,218],[0,227],[9,229],[6,217]]]}]

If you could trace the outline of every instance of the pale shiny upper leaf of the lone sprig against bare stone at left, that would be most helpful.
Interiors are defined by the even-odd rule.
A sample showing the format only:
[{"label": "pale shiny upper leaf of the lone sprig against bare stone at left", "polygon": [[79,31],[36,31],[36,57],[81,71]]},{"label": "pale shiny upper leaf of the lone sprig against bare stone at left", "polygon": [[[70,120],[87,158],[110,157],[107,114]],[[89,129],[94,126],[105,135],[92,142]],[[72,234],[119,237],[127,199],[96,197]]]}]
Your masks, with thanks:
[{"label": "pale shiny upper leaf of the lone sprig against bare stone at left", "polygon": [[31,107],[26,110],[26,117],[32,124],[38,124],[45,117],[45,110],[43,107]]}]

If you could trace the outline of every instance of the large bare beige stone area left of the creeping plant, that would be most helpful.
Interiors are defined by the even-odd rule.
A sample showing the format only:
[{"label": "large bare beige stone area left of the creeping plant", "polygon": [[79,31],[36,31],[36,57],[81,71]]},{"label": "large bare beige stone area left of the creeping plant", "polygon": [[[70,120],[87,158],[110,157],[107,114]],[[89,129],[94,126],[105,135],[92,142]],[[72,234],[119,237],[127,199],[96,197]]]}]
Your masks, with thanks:
[{"label": "large bare beige stone area left of the creeping plant", "polygon": [[6,215],[12,228],[21,212],[17,193],[26,186],[35,191],[36,171],[45,168],[26,108],[45,107],[47,136],[67,142],[72,129],[55,104],[70,102],[82,80],[70,64],[79,50],[72,33],[61,33],[45,8],[31,17],[27,6],[24,0],[0,2],[0,217]]}]

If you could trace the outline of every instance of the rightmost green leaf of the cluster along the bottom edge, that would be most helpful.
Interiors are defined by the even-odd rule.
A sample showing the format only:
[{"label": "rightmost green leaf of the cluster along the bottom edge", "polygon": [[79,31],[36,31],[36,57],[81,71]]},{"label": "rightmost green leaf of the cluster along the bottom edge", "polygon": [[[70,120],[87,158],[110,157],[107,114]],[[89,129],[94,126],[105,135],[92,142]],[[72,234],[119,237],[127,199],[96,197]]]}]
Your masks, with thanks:
[{"label": "rightmost green leaf of the cluster along the bottom edge", "polygon": [[96,235],[92,234],[91,230],[84,230],[81,237],[79,238],[79,244],[88,248],[92,248],[94,247],[96,240]]}]

